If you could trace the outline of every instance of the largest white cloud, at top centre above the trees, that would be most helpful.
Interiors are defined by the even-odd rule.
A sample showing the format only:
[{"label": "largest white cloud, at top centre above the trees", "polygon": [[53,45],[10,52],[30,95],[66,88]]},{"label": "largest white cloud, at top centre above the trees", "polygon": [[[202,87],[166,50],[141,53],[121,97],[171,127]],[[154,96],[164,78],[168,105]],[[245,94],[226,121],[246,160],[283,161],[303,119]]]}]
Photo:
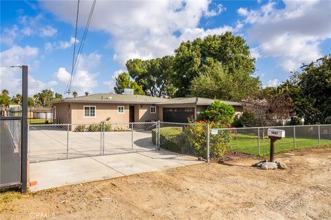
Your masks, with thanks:
[{"label": "largest white cloud, at top centre above the trees", "polygon": [[[87,18],[91,1],[81,1],[80,16]],[[46,10],[74,25],[74,1],[42,1]],[[223,5],[209,10],[210,1],[97,1],[90,31],[110,34],[109,45],[114,48],[114,60],[122,67],[129,58],[155,58],[174,53],[181,41],[206,34],[221,34],[235,30],[228,26],[205,30],[199,28],[202,17],[220,13]],[[85,27],[86,19],[79,26]]]}]

